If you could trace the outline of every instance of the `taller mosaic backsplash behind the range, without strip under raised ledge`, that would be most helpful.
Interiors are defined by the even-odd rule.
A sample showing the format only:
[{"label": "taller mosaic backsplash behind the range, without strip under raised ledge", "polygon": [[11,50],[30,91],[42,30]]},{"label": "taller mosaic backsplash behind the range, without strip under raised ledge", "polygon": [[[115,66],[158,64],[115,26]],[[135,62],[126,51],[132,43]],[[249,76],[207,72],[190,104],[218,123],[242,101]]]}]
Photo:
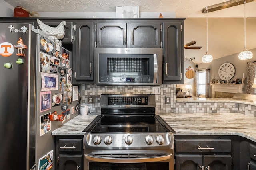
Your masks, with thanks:
[{"label": "taller mosaic backsplash behind the range, without strip under raised ledge", "polygon": [[[82,103],[88,104],[88,96],[93,98],[93,103],[88,104],[92,113],[100,114],[101,94],[152,94],[152,86],[97,86],[82,85]],[[165,103],[165,97],[171,98],[170,104]],[[170,113],[176,111],[176,84],[160,86],[160,94],[156,94],[156,113]]]}]

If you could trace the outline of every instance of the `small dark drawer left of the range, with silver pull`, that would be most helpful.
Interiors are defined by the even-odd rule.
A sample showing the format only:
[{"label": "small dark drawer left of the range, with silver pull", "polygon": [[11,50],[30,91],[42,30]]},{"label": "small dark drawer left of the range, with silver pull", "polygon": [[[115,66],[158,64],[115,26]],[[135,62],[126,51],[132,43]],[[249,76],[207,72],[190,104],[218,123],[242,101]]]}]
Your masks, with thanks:
[{"label": "small dark drawer left of the range, with silver pull", "polygon": [[70,152],[80,152],[82,151],[82,139],[60,139],[59,140],[59,150],[60,151],[70,151]]}]

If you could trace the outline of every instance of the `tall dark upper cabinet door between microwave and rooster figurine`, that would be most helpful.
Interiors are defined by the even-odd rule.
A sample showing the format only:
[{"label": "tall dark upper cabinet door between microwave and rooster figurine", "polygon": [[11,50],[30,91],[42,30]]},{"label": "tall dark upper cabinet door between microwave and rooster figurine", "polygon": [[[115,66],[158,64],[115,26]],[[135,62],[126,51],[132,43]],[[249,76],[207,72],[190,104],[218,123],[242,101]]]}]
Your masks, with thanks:
[{"label": "tall dark upper cabinet door between microwave and rooster figurine", "polygon": [[93,83],[93,30],[92,22],[76,23],[76,43],[73,46],[74,83]]}]

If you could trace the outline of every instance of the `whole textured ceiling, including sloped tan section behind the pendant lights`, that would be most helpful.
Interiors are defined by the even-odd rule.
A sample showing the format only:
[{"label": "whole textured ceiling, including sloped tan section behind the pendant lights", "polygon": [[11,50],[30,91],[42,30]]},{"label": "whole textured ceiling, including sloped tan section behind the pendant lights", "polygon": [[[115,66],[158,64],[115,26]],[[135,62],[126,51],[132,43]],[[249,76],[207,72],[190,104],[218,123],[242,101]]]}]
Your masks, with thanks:
[{"label": "whole textured ceiling, including sloped tan section behind the pendant lights", "polygon": [[[227,0],[4,0],[36,12],[116,12],[116,6],[139,6],[140,12],[175,12],[186,18],[184,43],[196,41],[200,50],[185,50],[185,57],[202,63],[206,53],[206,14],[202,9]],[[256,1],[246,3],[246,47],[256,48]],[[164,16],[165,17],[165,16]],[[244,5],[208,13],[208,52],[214,59],[244,49]],[[254,54],[256,56],[256,54]]]}]

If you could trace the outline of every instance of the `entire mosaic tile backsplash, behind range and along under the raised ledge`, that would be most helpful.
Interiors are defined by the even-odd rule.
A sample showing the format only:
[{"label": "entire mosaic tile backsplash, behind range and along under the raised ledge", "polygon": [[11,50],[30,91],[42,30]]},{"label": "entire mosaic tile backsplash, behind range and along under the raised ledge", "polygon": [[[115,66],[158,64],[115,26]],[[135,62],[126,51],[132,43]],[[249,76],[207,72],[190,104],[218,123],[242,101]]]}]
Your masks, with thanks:
[{"label": "entire mosaic tile backsplash, behind range and along under the raised ledge", "polygon": [[[93,103],[88,104],[92,113],[100,114],[101,94],[152,94],[152,86],[97,86],[82,85],[82,104],[88,104],[88,96]],[[166,96],[170,104],[165,103]],[[176,103],[176,84],[161,85],[160,94],[156,94],[156,113],[241,113],[256,117],[256,106],[222,102],[178,102]]]}]

